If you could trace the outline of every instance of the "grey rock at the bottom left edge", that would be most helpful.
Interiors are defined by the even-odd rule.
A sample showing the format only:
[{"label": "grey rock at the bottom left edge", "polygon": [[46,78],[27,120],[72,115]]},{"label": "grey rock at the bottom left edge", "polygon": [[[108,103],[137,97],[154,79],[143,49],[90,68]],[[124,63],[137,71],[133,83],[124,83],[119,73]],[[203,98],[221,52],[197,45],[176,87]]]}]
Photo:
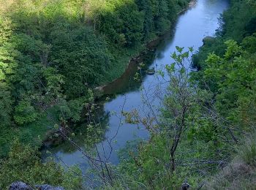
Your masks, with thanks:
[{"label": "grey rock at the bottom left edge", "polygon": [[64,190],[63,187],[57,186],[53,187],[50,185],[36,185],[34,187],[29,186],[26,183],[23,183],[21,181],[12,183],[9,187],[9,190],[33,190],[33,189],[39,189],[39,190]]}]

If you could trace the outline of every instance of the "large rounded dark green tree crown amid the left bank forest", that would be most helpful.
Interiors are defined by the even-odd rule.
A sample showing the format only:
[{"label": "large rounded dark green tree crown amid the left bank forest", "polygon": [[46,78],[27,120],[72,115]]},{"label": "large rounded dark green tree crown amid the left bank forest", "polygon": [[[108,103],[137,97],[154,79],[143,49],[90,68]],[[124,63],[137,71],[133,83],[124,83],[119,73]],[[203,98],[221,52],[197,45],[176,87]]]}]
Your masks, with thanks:
[{"label": "large rounded dark green tree crown amid the left bank forest", "polygon": [[53,39],[50,58],[64,75],[64,94],[75,99],[85,96],[88,86],[102,80],[110,64],[110,54],[105,42],[89,28],[59,24],[50,31]]}]

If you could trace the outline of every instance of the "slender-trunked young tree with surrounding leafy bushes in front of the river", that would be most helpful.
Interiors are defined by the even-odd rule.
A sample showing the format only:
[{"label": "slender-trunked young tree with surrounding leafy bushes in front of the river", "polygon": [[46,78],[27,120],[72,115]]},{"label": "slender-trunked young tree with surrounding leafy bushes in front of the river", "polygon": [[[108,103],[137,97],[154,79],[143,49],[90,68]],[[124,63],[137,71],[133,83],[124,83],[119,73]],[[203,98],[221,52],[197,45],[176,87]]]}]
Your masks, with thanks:
[{"label": "slender-trunked young tree with surrounding leafy bushes in front of the river", "polygon": [[218,126],[203,109],[204,102],[211,101],[211,93],[196,88],[189,76],[189,55],[193,49],[189,47],[189,51],[184,52],[183,47],[176,47],[176,50],[177,53],[172,54],[173,64],[165,66],[169,86],[159,123],[154,124],[154,118],[140,118],[138,111],[124,113],[129,123],[141,121],[151,137],[138,145],[135,152],[129,150],[129,157],[123,157],[120,170],[148,189],[178,189],[185,178],[195,185],[200,174],[191,171],[206,170],[207,166],[188,164],[183,167],[182,164],[187,160],[222,157],[214,152],[222,147],[217,143]]}]

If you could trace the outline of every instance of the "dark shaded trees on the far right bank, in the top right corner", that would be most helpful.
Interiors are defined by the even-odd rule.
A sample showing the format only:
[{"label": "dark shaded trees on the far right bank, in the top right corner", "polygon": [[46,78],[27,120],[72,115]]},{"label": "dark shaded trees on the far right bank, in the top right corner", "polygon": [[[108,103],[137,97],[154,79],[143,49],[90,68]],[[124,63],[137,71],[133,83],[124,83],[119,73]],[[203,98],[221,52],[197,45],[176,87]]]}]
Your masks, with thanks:
[{"label": "dark shaded trees on the far right bank, in the top right corner", "polygon": [[[221,26],[217,30],[217,37],[206,42],[195,55],[194,66],[201,69],[204,66],[208,53],[223,56],[225,53],[225,41],[234,39],[239,44],[245,37],[251,36],[256,31],[255,7],[248,1],[230,1],[230,8],[222,15]],[[251,37],[250,37],[251,38]],[[197,77],[200,78],[200,72]]]}]

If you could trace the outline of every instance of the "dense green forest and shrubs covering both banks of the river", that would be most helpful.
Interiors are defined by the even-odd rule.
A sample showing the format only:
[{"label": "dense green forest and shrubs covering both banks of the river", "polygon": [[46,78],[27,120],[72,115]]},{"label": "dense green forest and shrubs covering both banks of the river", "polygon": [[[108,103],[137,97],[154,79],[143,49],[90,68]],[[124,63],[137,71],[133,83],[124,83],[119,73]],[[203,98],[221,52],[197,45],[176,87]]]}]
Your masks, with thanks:
[{"label": "dense green forest and shrubs covering both banks of the river", "polygon": [[[0,189],[15,180],[82,189],[83,173],[42,163],[39,145],[50,130],[80,121],[91,89],[121,75],[188,1],[0,2]],[[230,0],[220,22],[198,52],[176,47],[171,55],[159,120],[124,113],[150,139],[121,151],[118,166],[103,163],[100,188],[255,187],[255,1]]]}]

